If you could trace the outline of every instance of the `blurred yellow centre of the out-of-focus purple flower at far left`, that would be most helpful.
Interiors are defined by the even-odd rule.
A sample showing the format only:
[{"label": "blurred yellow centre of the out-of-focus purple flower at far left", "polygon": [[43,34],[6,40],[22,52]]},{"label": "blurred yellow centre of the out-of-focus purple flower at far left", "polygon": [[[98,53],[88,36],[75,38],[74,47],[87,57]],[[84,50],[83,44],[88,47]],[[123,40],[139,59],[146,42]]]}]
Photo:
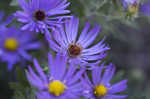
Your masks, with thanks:
[{"label": "blurred yellow centre of the out-of-focus purple flower at far left", "polygon": [[15,51],[18,47],[18,42],[14,38],[8,38],[4,42],[4,47],[9,51]]}]

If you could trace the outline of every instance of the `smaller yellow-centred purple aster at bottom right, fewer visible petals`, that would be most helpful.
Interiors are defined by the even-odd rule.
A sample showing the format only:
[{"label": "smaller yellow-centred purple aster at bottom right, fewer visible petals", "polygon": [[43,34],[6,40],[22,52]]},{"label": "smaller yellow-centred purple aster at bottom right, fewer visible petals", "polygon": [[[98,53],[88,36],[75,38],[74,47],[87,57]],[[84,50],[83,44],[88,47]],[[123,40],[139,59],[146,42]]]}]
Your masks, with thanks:
[{"label": "smaller yellow-centred purple aster at bottom right, fewer visible petals", "polygon": [[[105,70],[105,71],[104,71]],[[117,94],[127,88],[127,80],[122,80],[111,85],[115,72],[115,66],[110,64],[106,68],[104,65],[92,70],[92,82],[85,73],[83,79],[84,91],[83,94],[87,99],[124,99],[127,95]],[[102,75],[103,74],[103,75]]]}]

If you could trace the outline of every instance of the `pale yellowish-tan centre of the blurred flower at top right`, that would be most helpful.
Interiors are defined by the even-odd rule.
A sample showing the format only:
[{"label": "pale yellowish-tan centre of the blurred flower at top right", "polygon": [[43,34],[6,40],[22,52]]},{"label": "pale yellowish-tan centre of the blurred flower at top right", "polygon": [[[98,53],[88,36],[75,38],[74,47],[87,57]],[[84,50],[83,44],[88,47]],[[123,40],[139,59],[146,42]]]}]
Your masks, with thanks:
[{"label": "pale yellowish-tan centre of the blurred flower at top right", "polygon": [[128,5],[128,11],[130,14],[137,14],[138,10],[139,10],[138,3]]}]

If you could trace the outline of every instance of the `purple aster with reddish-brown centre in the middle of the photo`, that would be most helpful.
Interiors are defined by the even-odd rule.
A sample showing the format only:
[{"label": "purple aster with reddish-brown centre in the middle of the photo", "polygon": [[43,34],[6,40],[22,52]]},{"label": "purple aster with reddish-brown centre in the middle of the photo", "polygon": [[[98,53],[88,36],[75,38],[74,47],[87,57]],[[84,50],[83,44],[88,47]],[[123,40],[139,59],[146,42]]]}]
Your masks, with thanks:
[{"label": "purple aster with reddish-brown centre in the middle of the photo", "polygon": [[79,19],[73,17],[66,20],[64,26],[53,29],[53,37],[47,33],[50,47],[57,53],[67,55],[70,62],[76,60],[80,65],[103,59],[106,56],[104,51],[109,50],[109,47],[103,44],[104,39],[96,45],[92,44],[99,34],[100,26],[90,30],[90,24],[87,22],[78,38],[78,25]]}]

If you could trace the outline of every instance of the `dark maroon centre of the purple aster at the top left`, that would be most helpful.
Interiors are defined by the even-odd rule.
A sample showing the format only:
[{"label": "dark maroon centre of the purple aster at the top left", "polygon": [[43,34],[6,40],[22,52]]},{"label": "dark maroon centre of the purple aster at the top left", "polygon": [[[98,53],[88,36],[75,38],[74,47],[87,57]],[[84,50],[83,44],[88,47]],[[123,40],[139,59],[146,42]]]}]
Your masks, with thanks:
[{"label": "dark maroon centre of the purple aster at the top left", "polygon": [[45,15],[44,11],[38,10],[34,13],[34,17],[38,21],[43,21],[43,20],[45,20],[46,15]]}]

